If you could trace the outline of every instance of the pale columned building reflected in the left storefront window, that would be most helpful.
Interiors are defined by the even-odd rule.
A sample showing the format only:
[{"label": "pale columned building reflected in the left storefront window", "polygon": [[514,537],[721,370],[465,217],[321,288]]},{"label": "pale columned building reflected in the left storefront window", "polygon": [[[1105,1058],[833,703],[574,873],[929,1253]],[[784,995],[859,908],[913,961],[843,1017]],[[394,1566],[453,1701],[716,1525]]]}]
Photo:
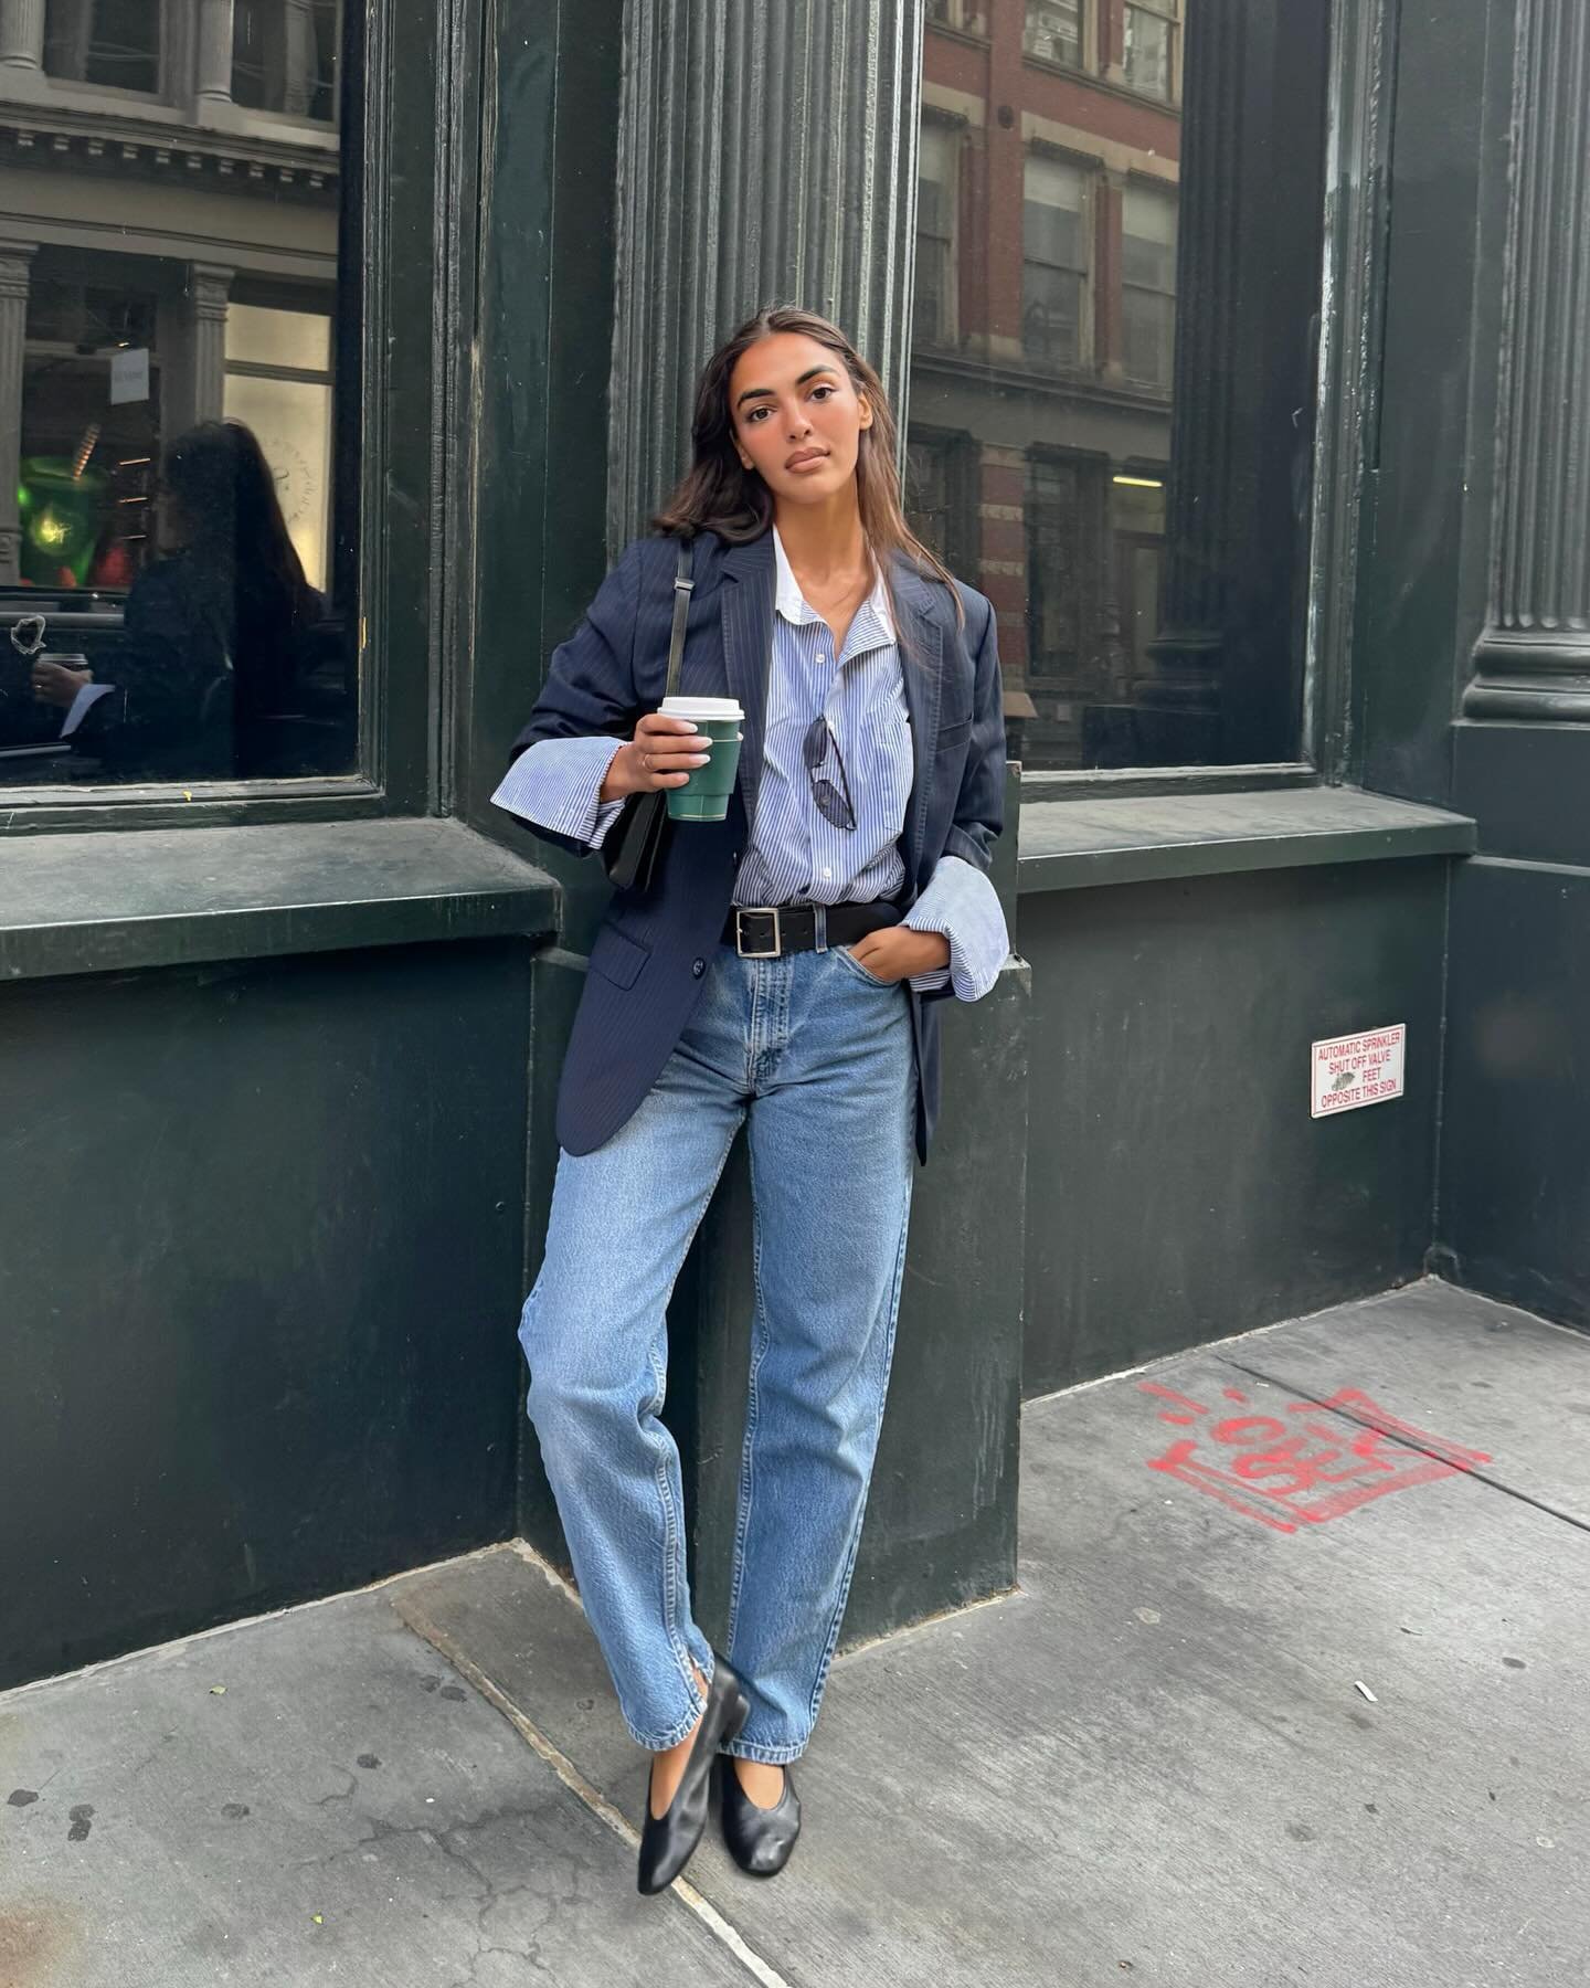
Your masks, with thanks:
[{"label": "pale columned building reflected in the left storefront window", "polygon": [[342,592],[342,36],[340,0],[0,0],[0,610],[89,666],[161,557],[163,451],[207,421],[252,429],[304,579]]}]

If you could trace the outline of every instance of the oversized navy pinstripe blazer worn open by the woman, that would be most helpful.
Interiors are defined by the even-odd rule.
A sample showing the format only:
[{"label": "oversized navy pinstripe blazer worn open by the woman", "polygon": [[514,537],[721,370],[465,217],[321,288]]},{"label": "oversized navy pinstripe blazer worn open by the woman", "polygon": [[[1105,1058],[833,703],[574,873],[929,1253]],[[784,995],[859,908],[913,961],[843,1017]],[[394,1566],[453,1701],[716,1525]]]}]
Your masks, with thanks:
[{"label": "oversized navy pinstripe blazer worn open by the woman", "polygon": [[[630,738],[666,694],[674,618],[676,541],[636,539],[602,582],[584,620],[558,644],[531,722],[513,742],[519,755],[547,738]],[[960,586],[960,582],[956,582]],[[719,944],[735,869],[755,821],[767,672],[773,656],[773,535],[725,545],[696,541],[680,690],[735,696],[745,710],[739,779],[721,823],[692,823],[668,837],[652,889],[616,891],[590,948],[590,972],[574,1016],[558,1085],[556,1137],[590,1153],[630,1117],[678,1044],[706,968]],[[994,608],[960,586],[966,628],[942,580],[896,557],[894,592],[914,654],[902,670],[914,771],[900,831],[904,907],[926,889],[942,855],[988,871],[1004,827],[1006,734]],[[584,843],[527,823],[531,833],[574,855]],[[916,1044],[916,1153],[926,1161],[938,1119],[938,1002],[948,986],[910,998]]]}]

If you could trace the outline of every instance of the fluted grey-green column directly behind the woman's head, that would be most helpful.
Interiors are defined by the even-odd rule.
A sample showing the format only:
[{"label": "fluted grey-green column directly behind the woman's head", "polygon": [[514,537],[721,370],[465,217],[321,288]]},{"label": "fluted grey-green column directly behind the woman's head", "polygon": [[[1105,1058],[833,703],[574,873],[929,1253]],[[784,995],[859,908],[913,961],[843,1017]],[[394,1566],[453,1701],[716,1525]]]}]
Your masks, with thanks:
[{"label": "fluted grey-green column directly behind the woman's head", "polygon": [[904,435],[920,0],[628,0],[608,537],[686,461],[696,376],[759,304],[821,310]]}]

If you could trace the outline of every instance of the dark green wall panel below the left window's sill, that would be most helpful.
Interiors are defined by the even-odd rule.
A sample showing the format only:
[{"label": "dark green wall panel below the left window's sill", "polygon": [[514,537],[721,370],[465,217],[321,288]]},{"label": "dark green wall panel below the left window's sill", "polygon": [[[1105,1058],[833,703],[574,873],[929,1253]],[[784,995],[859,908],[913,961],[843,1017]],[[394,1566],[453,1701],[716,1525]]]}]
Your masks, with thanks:
[{"label": "dark green wall panel below the left window's sill", "polygon": [[0,990],[0,1688],[513,1533],[531,966]]}]

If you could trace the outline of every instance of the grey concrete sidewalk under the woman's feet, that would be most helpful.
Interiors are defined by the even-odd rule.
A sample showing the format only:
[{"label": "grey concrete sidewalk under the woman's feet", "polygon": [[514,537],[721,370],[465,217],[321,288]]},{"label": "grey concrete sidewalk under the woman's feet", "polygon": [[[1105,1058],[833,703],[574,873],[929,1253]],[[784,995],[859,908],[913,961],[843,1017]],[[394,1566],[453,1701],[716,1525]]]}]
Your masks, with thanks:
[{"label": "grey concrete sidewalk under the woman's feet", "polygon": [[1020,1590],[839,1660],[773,1883],[634,1891],[515,1547],[28,1686],[0,1988],[1578,1988],[1586,1435],[1590,1342],[1435,1282],[1030,1404]]}]

